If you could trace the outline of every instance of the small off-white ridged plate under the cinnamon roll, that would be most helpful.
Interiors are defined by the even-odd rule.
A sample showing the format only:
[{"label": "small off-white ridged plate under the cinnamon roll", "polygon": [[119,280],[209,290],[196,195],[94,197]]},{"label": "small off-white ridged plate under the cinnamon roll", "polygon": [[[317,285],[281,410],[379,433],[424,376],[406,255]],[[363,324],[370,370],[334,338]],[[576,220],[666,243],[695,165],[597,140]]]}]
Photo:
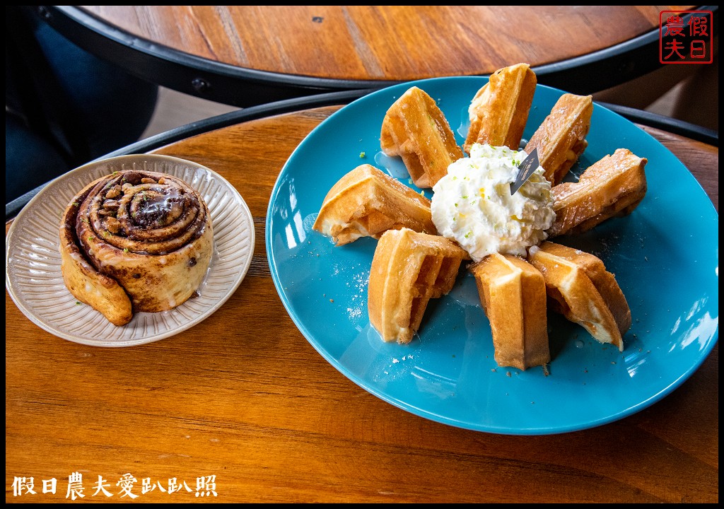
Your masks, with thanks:
[{"label": "small off-white ridged plate under the cinnamon roll", "polygon": [[[173,175],[203,196],[214,228],[209,272],[191,298],[170,311],[136,313],[116,327],[77,303],[63,283],[59,228],[65,207],[85,185],[115,171]],[[5,287],[20,311],[39,327],[85,345],[143,345],[193,327],[226,302],[244,279],[254,251],[254,224],[246,202],[221,175],[170,156],[120,156],[86,164],[46,185],[14,219],[5,237]]]}]

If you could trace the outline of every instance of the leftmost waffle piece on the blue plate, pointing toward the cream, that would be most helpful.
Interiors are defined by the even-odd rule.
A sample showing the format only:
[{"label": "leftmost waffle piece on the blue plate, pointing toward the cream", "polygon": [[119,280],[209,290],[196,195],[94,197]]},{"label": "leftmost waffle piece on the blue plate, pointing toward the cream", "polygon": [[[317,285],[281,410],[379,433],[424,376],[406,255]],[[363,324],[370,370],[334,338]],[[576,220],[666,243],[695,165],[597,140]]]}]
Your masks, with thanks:
[{"label": "leftmost waffle piece on the blue plate, pointing toward the cream", "polygon": [[313,225],[337,245],[403,227],[436,235],[430,201],[370,164],[332,186]]}]

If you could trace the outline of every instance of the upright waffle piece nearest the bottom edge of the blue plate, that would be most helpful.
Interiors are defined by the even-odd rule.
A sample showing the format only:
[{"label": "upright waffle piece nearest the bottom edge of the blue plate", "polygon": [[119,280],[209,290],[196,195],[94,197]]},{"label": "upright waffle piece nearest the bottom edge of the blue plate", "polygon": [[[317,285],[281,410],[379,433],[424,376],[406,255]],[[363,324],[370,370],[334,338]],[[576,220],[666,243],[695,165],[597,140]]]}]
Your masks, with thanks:
[{"label": "upright waffle piece nearest the bottom edge of the blue plate", "polygon": [[550,362],[546,289],[523,258],[493,253],[469,269],[490,321],[498,366],[527,369]]}]

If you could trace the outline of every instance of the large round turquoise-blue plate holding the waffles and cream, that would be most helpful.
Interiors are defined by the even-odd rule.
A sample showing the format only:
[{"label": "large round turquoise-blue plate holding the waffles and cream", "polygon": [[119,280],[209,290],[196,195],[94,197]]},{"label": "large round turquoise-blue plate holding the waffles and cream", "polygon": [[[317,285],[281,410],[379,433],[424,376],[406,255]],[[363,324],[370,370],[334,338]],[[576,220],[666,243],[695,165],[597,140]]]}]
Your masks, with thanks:
[{"label": "large round turquoise-blue plate holding the waffles and cream", "polygon": [[[335,247],[311,230],[324,196],[359,164],[408,182],[400,159],[380,153],[390,105],[411,85],[437,101],[462,144],[467,108],[485,77],[445,77],[371,93],[332,114],[298,146],[271,193],[266,252],[274,284],[311,345],[345,377],[382,400],[452,426],[501,434],[553,434],[599,426],[646,408],[704,361],[719,335],[719,217],[704,190],[667,148],[618,114],[594,106],[580,174],[616,148],[649,162],[648,192],[626,217],[558,238],[602,258],[631,307],[625,350],[549,314],[549,374],[500,368],[474,279],[431,300],[408,345],[382,342],[367,314],[376,240]],[[539,85],[523,138],[563,92]],[[432,191],[426,190],[431,196]]]}]

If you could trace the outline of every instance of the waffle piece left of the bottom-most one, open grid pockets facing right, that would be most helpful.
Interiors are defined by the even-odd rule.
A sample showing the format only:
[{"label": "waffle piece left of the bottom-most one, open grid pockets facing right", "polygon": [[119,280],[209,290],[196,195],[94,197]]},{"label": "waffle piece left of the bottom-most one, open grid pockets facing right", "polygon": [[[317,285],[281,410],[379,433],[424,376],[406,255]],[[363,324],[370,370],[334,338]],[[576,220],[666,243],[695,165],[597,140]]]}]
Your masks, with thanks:
[{"label": "waffle piece left of the bottom-most one, open grid pockets facing right", "polygon": [[438,235],[387,230],[369,274],[369,320],[384,341],[411,342],[431,298],[452,290],[468,253]]}]

